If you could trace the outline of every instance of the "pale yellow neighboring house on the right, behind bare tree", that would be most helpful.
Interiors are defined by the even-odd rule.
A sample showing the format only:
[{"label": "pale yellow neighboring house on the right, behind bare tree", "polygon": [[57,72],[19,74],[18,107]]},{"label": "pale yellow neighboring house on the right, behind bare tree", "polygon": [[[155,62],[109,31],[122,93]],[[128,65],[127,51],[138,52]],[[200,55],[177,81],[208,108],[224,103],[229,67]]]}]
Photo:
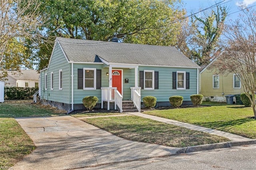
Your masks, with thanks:
[{"label": "pale yellow neighboring house on the right, behind bare tree", "polygon": [[226,102],[226,95],[244,93],[244,87],[236,74],[217,74],[214,69],[209,69],[212,62],[200,69],[199,93],[204,95],[204,101]]}]

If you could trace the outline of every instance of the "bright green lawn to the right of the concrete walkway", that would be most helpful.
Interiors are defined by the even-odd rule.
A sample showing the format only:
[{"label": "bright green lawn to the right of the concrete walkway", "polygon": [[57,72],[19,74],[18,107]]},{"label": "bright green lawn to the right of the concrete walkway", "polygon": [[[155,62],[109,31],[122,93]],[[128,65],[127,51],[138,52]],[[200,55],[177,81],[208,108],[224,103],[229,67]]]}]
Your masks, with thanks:
[{"label": "bright green lawn to the right of the concrete walkway", "polygon": [[251,107],[215,103],[211,107],[153,110],[144,113],[256,138],[256,120],[251,119],[254,116]]}]

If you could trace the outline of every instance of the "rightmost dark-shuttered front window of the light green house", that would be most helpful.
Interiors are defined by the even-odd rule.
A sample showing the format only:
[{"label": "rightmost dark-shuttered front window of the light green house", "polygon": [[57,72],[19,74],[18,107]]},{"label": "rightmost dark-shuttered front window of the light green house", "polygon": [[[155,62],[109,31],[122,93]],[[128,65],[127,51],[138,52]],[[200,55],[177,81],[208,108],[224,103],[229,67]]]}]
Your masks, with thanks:
[{"label": "rightmost dark-shuttered front window of the light green house", "polygon": [[172,72],[172,89],[190,89],[190,73],[186,71]]}]

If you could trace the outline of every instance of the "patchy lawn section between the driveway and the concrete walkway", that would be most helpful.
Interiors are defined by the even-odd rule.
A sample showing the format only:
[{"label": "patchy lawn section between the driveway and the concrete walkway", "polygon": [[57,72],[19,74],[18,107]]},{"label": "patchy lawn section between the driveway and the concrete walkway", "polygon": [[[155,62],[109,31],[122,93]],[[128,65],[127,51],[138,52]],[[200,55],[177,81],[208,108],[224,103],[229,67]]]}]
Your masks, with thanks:
[{"label": "patchy lawn section between the driveway and the concrete walkway", "polygon": [[84,119],[83,121],[121,138],[164,146],[184,147],[228,141],[222,136],[189,130],[137,116],[101,117]]}]

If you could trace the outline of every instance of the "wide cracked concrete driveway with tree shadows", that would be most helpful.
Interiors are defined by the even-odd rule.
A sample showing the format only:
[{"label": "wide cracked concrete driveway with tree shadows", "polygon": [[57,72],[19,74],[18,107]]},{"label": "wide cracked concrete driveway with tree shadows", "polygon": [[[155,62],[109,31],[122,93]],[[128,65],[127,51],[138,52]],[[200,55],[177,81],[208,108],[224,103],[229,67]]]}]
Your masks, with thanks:
[{"label": "wide cracked concrete driveway with tree shadows", "polygon": [[64,170],[171,155],[179,148],[119,138],[71,116],[17,118],[36,145],[12,168]]}]

